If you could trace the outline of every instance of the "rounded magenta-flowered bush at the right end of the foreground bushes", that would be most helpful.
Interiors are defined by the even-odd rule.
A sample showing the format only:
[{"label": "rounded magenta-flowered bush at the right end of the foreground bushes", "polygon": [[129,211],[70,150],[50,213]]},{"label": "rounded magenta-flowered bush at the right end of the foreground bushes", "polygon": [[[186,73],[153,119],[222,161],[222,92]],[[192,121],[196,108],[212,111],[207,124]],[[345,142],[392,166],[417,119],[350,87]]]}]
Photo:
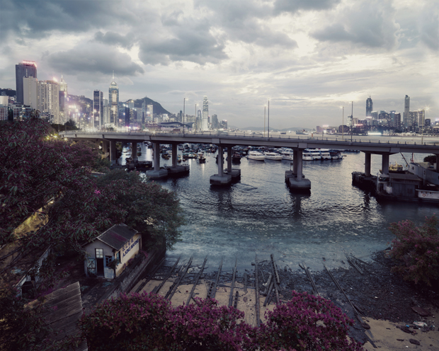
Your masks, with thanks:
[{"label": "rounded magenta-flowered bush at the right end of the foreground bushes", "polygon": [[258,333],[261,350],[363,350],[355,340],[348,340],[353,321],[331,301],[292,292],[286,304],[266,311],[266,325]]}]

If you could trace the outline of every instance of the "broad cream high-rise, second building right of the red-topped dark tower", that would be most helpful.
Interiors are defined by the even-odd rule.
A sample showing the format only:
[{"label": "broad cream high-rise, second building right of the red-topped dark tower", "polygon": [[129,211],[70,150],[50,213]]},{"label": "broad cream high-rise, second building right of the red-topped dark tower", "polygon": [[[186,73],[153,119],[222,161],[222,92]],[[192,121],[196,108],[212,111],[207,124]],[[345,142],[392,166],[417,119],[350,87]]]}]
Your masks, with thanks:
[{"label": "broad cream high-rise, second building right of the red-topped dark tower", "polygon": [[56,81],[38,81],[38,110],[40,116],[52,123],[60,124],[59,84]]}]

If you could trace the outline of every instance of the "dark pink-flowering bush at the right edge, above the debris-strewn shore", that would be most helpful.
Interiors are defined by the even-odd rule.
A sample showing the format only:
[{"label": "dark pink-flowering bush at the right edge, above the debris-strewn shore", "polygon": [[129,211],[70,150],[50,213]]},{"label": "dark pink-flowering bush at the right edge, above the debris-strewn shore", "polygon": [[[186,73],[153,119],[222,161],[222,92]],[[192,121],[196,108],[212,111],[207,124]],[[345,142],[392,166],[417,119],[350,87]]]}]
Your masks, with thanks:
[{"label": "dark pink-flowering bush at the right edge, above the debris-strewn shore", "polygon": [[438,219],[426,217],[422,226],[415,226],[412,221],[392,223],[389,230],[396,236],[392,240],[389,255],[400,261],[392,267],[397,272],[417,284],[423,282],[428,286],[439,278],[439,232]]}]

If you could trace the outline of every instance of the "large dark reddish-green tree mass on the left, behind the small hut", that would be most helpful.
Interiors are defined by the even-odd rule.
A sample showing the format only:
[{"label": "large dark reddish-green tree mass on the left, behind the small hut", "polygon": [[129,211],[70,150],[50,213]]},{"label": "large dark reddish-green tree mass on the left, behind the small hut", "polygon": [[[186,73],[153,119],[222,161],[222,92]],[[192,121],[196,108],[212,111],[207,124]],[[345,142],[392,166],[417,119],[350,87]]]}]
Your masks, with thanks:
[{"label": "large dark reddish-green tree mass on the left, behind the small hut", "polygon": [[[51,264],[55,255],[74,253],[82,260],[81,243],[113,224],[147,230],[159,243],[167,239],[168,246],[178,240],[183,217],[176,196],[138,175],[123,179],[120,173],[108,175],[110,180],[101,181],[99,188],[91,171],[100,160],[96,145],[58,140],[38,118],[0,124],[0,306],[16,298],[17,267],[30,275],[38,273],[42,294],[68,274]],[[35,214],[44,219],[37,228],[21,226]],[[52,255],[40,267],[38,258],[47,249]],[[0,323],[19,323],[26,316],[24,303],[25,299],[13,309],[0,309]],[[7,328],[2,336],[18,340],[20,333]],[[35,333],[26,335],[23,348],[35,349]]]}]

